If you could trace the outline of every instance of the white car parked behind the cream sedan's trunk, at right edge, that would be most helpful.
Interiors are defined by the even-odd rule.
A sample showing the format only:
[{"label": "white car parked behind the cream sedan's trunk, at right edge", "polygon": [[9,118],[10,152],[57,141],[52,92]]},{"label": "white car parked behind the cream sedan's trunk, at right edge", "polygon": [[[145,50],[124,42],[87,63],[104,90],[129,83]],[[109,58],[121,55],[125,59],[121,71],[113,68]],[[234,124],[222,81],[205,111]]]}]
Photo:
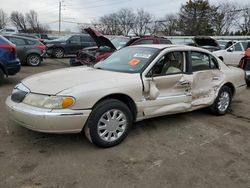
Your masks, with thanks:
[{"label": "white car parked behind the cream sedan's trunk, at right edge", "polygon": [[225,49],[214,51],[222,61],[228,65],[238,66],[239,61],[245,55],[245,50],[250,47],[249,41],[228,41]]}]

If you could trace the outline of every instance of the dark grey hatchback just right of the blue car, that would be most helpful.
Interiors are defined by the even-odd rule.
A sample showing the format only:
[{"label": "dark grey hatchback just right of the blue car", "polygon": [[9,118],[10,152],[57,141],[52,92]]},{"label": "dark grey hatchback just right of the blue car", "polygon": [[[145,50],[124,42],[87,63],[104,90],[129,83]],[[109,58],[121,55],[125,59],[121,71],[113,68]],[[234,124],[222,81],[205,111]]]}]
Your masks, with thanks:
[{"label": "dark grey hatchback just right of the blue car", "polygon": [[4,37],[16,45],[17,57],[22,65],[39,66],[41,64],[45,45],[39,40],[15,35],[4,35]]}]

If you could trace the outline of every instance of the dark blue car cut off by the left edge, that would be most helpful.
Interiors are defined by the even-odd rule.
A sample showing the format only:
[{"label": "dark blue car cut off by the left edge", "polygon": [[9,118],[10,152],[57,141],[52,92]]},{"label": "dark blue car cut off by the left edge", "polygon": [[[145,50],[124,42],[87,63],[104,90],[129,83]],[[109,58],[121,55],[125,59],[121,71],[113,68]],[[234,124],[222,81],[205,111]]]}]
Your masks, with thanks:
[{"label": "dark blue car cut off by the left edge", "polygon": [[20,69],[16,46],[0,35],[0,80],[5,76],[15,75]]}]

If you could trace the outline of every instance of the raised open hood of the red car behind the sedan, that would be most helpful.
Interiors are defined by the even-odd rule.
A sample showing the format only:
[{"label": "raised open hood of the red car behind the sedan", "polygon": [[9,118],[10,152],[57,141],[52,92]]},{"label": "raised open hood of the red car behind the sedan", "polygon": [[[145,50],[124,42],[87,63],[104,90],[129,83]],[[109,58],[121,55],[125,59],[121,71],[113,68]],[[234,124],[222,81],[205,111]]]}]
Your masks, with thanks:
[{"label": "raised open hood of the red car behind the sedan", "polygon": [[113,43],[106,37],[104,37],[100,32],[92,29],[92,28],[86,28],[84,29],[86,33],[88,33],[96,42],[97,46],[108,46],[111,49],[116,50],[116,47],[113,45]]}]

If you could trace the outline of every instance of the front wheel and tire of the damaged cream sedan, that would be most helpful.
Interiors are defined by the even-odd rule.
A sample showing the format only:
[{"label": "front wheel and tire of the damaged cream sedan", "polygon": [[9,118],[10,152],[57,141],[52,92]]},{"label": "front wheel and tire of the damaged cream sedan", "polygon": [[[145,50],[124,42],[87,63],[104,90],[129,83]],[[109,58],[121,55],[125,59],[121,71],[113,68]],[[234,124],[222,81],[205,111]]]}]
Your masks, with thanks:
[{"label": "front wheel and tire of the damaged cream sedan", "polygon": [[131,125],[132,114],[128,106],[119,100],[107,99],[95,106],[84,130],[90,142],[107,148],[121,143]]}]

